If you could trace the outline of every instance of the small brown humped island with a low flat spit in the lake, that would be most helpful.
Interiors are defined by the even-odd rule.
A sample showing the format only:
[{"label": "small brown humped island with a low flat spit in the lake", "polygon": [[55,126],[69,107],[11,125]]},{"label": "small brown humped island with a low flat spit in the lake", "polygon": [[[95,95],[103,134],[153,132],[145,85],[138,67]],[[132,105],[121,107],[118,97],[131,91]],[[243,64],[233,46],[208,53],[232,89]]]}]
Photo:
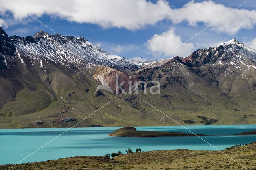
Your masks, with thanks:
[{"label": "small brown humped island with a low flat spit in the lake", "polygon": [[[198,136],[206,136],[204,134],[196,134]],[[190,133],[180,132],[158,132],[158,131],[136,131],[134,127],[123,127],[108,134],[114,137],[178,137],[178,136],[195,136]]]}]

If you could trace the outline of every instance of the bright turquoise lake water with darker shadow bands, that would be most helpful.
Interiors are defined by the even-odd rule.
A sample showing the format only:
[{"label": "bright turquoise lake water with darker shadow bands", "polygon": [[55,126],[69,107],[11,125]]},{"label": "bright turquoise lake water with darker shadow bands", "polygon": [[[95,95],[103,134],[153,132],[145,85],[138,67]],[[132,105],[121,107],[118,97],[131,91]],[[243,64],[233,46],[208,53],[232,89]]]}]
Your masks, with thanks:
[{"label": "bright turquoise lake water with darker shadow bands", "polygon": [[[256,125],[194,125],[185,126],[220,150],[235,144],[248,144],[256,141],[256,135],[231,136],[232,134],[256,130]],[[216,150],[196,136],[125,138],[107,135],[120,127],[71,128],[48,145],[44,146],[21,163],[53,160],[70,156],[105,155],[123,153],[127,148],[135,151],[190,149]],[[0,129],[0,164],[15,164],[64,132],[68,128],[41,129]],[[185,132],[181,126],[136,127],[137,130]],[[224,135],[224,136],[223,136]]]}]

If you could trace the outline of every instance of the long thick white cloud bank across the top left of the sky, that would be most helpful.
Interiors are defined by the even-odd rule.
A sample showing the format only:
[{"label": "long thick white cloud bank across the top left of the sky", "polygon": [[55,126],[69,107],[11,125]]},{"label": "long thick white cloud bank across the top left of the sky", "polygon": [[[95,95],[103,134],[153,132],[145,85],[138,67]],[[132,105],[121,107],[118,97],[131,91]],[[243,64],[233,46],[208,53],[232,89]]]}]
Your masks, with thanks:
[{"label": "long thick white cloud bank across the top left of the sky", "polygon": [[[170,6],[164,0],[156,4],[146,0],[12,0],[33,16],[49,14],[68,21],[98,24],[104,28],[138,29],[166,18]],[[0,13],[12,12],[16,20],[27,14],[6,0],[0,0]]]}]

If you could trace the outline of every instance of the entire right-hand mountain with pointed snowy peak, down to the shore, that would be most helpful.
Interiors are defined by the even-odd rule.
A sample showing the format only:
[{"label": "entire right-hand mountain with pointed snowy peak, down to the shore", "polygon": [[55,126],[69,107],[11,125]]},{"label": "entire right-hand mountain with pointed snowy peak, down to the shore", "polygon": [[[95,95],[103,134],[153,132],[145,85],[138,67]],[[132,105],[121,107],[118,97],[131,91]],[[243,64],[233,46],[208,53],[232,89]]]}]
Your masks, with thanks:
[{"label": "entire right-hand mountain with pointed snowy peak, down to the shore", "polygon": [[[161,93],[126,94],[122,98],[162,122],[170,120],[156,114],[156,110],[142,99],[180,123],[255,123],[255,52],[256,49],[250,49],[233,38],[213,48],[198,49],[188,57],[144,63],[135,72],[133,80],[146,81],[148,88],[152,86],[152,80],[157,80]],[[108,79],[104,82],[106,84]],[[112,82],[110,79],[110,88]],[[123,88],[128,89],[125,85]]]}]

